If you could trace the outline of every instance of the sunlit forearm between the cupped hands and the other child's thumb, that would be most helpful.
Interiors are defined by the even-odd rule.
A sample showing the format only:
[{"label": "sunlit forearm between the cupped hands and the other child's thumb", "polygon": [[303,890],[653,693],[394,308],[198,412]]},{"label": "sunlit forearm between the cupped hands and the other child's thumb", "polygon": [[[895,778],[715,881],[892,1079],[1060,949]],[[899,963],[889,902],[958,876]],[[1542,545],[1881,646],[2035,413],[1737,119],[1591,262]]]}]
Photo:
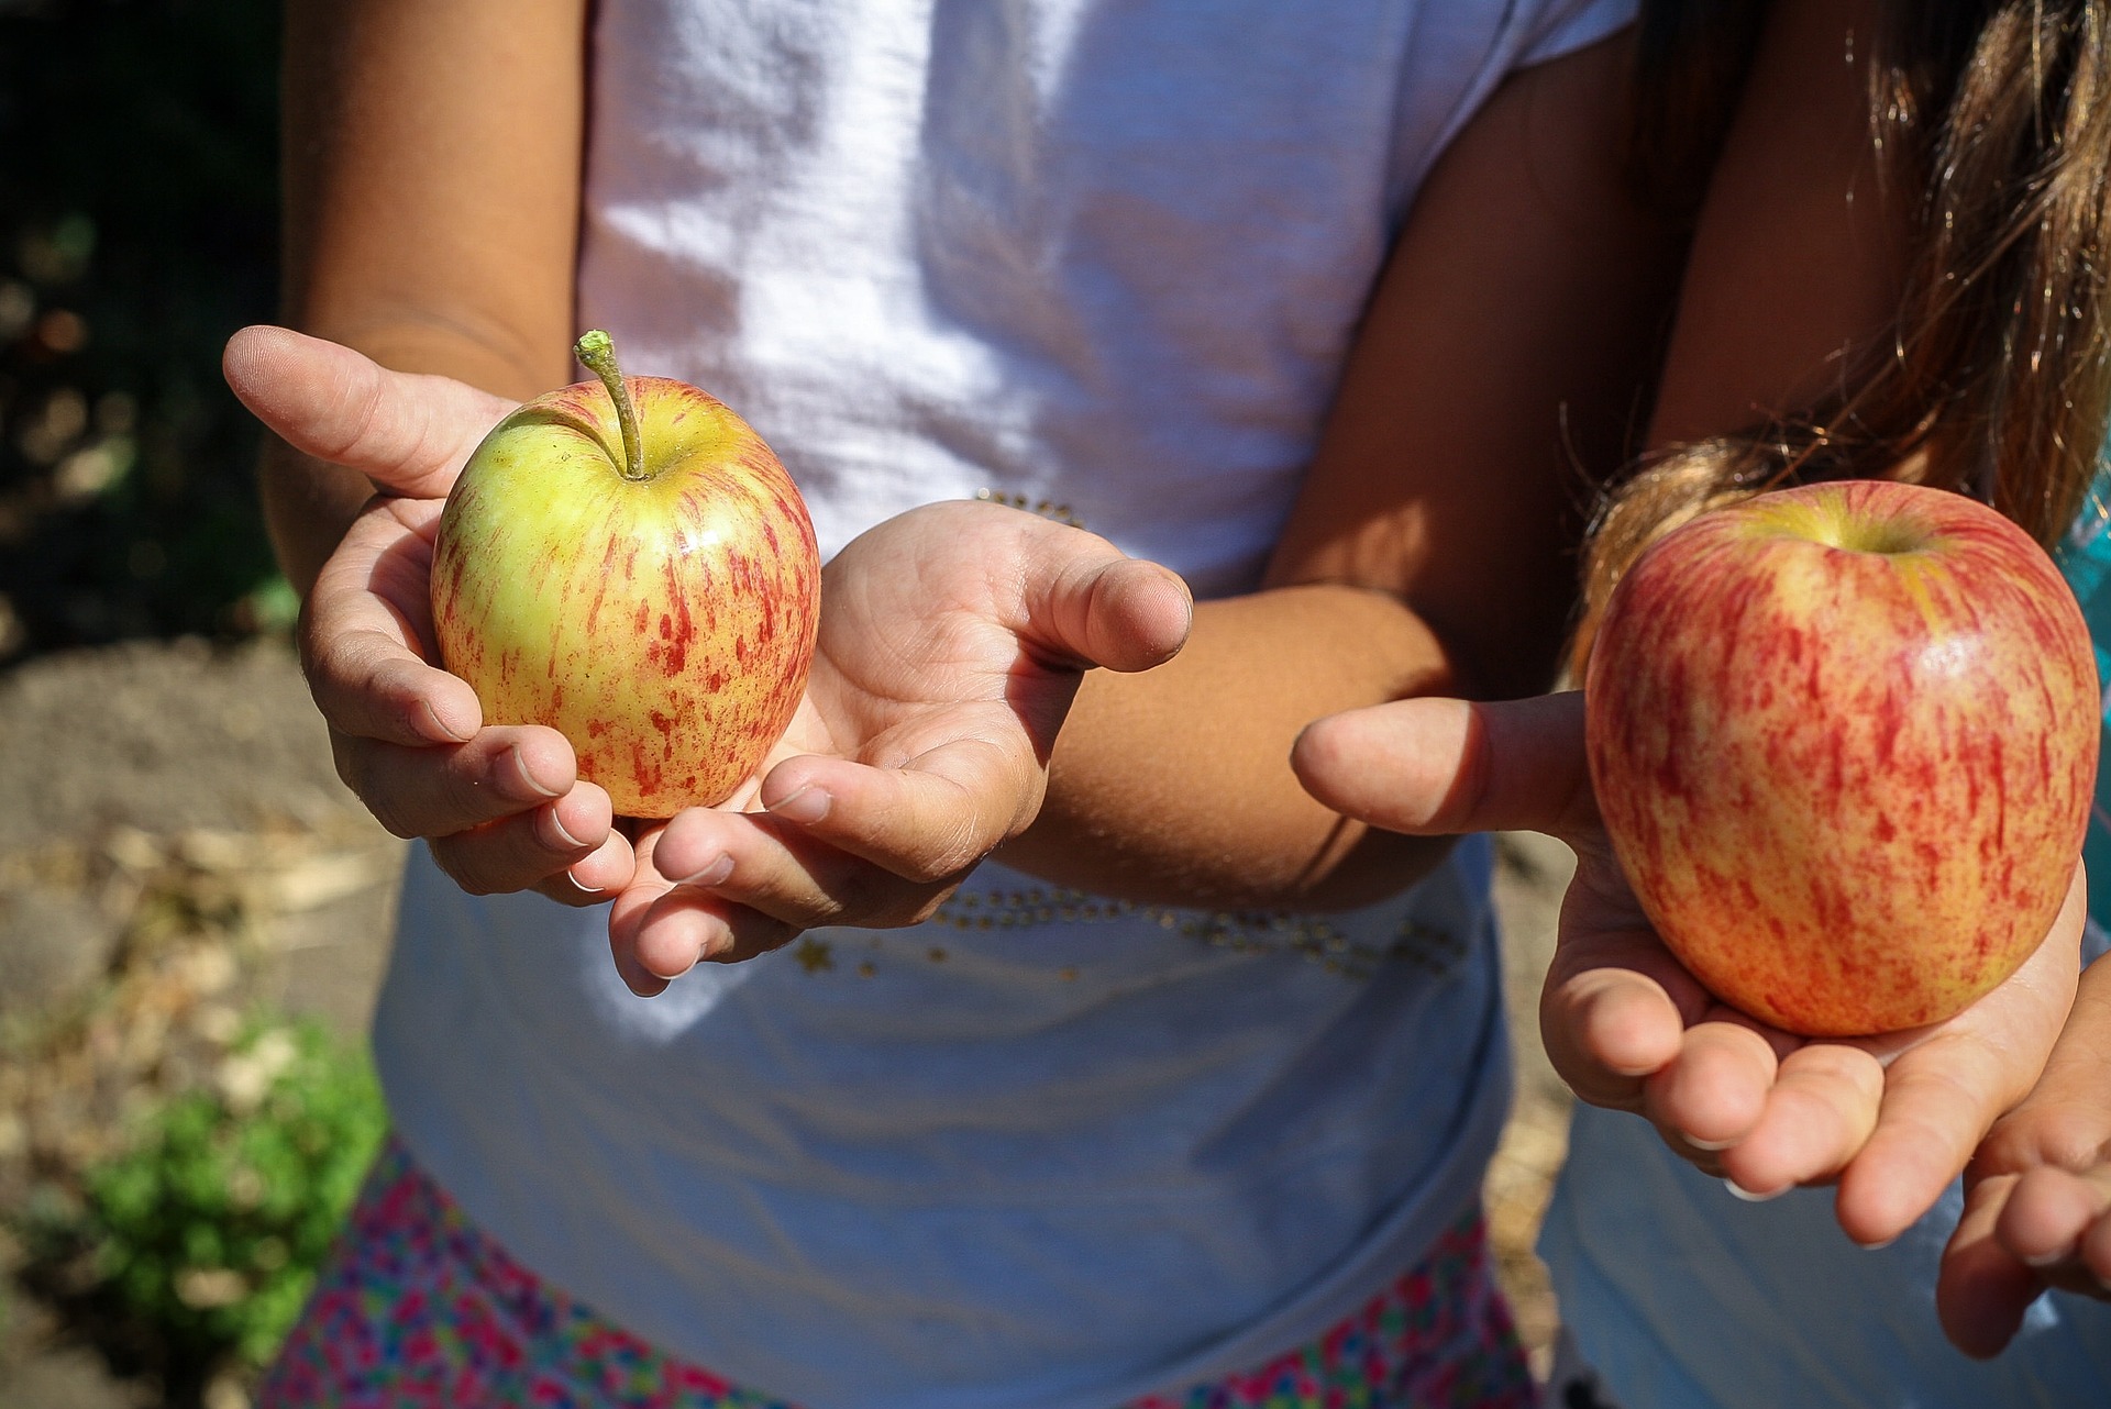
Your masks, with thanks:
[{"label": "sunlit forearm between the cupped hands and the other child's thumb", "polygon": [[1172,662],[1085,677],[1047,804],[999,858],[1146,903],[1376,901],[1450,842],[1370,831],[1319,806],[1290,772],[1290,745],[1324,713],[1450,690],[1438,637],[1385,593],[1313,584],[1197,603]]}]

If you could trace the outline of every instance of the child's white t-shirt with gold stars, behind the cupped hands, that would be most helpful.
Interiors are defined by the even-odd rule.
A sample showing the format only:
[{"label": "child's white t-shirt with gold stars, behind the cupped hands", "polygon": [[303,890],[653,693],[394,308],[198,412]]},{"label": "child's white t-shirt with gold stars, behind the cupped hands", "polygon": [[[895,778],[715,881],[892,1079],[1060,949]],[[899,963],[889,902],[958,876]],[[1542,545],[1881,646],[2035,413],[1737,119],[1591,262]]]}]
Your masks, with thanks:
[{"label": "child's white t-shirt with gold stars, behind the cupped hands", "polygon": [[[823,553],[1064,506],[1254,586],[1408,202],[1511,70],[1632,0],[597,6],[583,325],[718,392]],[[1507,1069],[1467,844],[1343,915],[982,867],[654,1000],[606,913],[416,854],[399,1128],[600,1314],[809,1409],[1106,1409],[1248,1369],[1476,1198]]]}]

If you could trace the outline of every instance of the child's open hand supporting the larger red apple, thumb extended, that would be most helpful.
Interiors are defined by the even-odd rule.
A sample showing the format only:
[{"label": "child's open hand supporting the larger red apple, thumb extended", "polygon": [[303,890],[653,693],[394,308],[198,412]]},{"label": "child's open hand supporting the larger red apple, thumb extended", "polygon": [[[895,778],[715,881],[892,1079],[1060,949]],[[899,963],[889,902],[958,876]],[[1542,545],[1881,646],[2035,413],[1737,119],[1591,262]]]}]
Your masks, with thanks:
[{"label": "child's open hand supporting the larger red apple, thumb extended", "polygon": [[1598,823],[1583,696],[1404,700],[1313,723],[1292,757],[1328,806],[1408,833],[1545,831],[1577,852],[1541,998],[1547,1055],[1594,1105],[1647,1116],[1697,1166],[1767,1196],[1839,1181],[1881,1244],[1925,1213],[2037,1080],[2073,1000],[2081,877],[2052,934],[1946,1023],[1866,1040],[1771,1029],[1710,996],[1644,920]]}]

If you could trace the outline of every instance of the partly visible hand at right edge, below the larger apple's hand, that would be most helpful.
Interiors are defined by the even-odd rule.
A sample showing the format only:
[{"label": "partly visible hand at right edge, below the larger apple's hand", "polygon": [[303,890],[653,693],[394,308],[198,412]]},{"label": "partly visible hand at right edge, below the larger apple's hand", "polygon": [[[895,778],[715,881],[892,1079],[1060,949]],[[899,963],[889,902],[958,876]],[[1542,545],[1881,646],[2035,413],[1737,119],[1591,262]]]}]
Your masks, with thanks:
[{"label": "partly visible hand at right edge, below the larger apple's hand", "polygon": [[2043,1078],[1972,1156],[1936,1308],[1959,1350],[1991,1356],[2048,1287],[2111,1299],[2111,960],[2084,970]]}]

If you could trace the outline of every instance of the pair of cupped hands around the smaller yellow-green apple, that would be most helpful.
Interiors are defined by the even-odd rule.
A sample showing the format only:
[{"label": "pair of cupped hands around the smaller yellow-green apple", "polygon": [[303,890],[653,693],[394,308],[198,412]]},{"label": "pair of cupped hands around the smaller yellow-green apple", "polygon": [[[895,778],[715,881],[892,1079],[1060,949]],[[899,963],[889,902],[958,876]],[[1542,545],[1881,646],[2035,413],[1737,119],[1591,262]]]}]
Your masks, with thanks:
[{"label": "pair of cupped hands around the smaller yellow-green apple", "polygon": [[813,679],[764,774],[640,829],[633,856],[562,734],[483,728],[475,692],[435,664],[433,534],[513,403],[270,327],[236,333],[226,371],[293,449],[380,491],[300,624],[338,772],[464,890],[612,899],[616,964],[642,993],[813,924],[927,915],[1032,821],[1081,673],[1148,669],[1186,639],[1186,586],[1091,534],[994,504],[901,515],[828,565]]}]

